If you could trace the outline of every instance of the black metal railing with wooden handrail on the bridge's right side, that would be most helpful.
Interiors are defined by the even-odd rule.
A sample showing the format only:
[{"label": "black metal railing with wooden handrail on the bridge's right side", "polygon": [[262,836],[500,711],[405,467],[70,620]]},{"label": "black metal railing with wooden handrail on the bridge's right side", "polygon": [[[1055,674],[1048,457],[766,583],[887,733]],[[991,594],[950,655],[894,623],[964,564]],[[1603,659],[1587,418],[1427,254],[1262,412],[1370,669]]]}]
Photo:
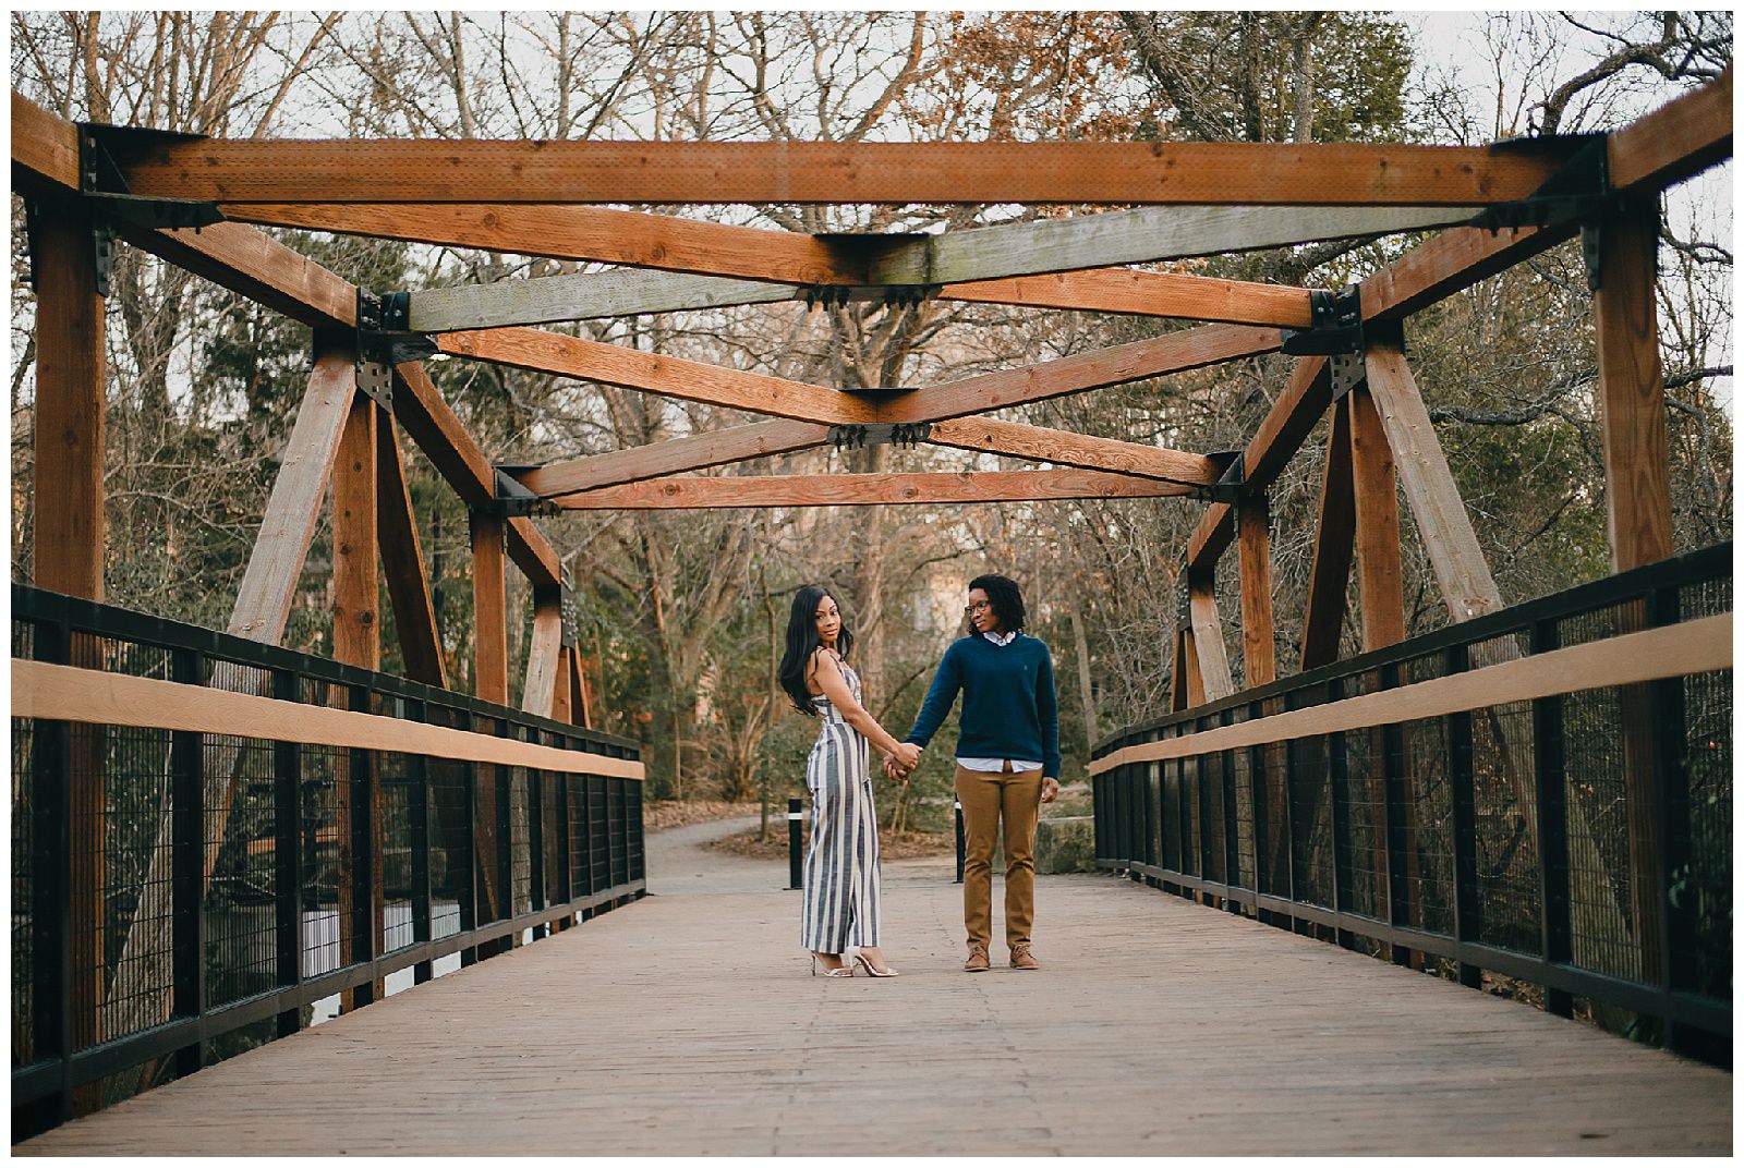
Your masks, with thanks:
[{"label": "black metal railing with wooden handrail on the bridge's right side", "polygon": [[[1730,645],[1571,675],[1730,610],[1723,544],[1123,730],[1097,865],[1730,1065]],[[1488,666],[1533,696],[1449,697]]]}]

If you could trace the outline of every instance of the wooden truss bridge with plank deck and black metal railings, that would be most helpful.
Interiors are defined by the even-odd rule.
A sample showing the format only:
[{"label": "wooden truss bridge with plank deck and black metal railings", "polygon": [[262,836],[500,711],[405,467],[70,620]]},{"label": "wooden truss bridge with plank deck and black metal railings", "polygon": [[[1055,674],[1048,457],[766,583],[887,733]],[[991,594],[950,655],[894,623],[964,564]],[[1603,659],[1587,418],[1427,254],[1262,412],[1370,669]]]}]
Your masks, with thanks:
[{"label": "wooden truss bridge with plank deck and black metal railings", "polygon": [[[1674,554],[1652,289],[1659,192],[1730,157],[1730,112],[1727,71],[1611,134],[1475,148],[256,143],[14,94],[40,354],[35,586],[12,593],[19,1151],[1725,1152],[1732,551]],[[724,199],[1134,206],[942,237],[556,206]],[[671,270],[375,295],[249,223]],[[1343,293],[1118,270],[1432,228]],[[1402,328],[1577,232],[1613,574],[1510,608]],[[99,603],[117,237],[314,329],[227,633]],[[1207,324],[896,394],[525,328],[935,296]],[[771,420],[497,467],[438,352]],[[1289,384],[1235,457],[980,417],[1273,352]],[[1322,417],[1282,676],[1266,492]],[[396,425],[469,509],[474,694],[448,687]],[[682,474],[830,441],[1053,469]],[[279,642],[330,488],[326,661]],[[1175,713],[1097,748],[1102,875],[1045,879],[1041,973],[959,973],[933,865],[891,866],[903,976],[844,983],[804,974],[780,868],[644,854],[640,748],[589,729],[532,511],[1113,495],[1205,504]],[[1451,619],[1409,642],[1400,495]],[[384,593],[405,678],[378,669]],[[1338,661],[1352,593],[1364,652]]]}]

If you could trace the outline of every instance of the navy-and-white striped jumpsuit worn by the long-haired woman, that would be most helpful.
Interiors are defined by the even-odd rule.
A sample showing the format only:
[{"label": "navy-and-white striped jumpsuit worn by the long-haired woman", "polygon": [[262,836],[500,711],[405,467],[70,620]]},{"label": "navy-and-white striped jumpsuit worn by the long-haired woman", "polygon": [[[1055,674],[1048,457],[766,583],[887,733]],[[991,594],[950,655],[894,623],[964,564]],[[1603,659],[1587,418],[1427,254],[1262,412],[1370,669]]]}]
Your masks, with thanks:
[{"label": "navy-and-white striped jumpsuit worn by the long-haired woman", "polygon": [[[842,666],[860,701],[860,676]],[[821,694],[811,699],[823,725],[806,758],[811,844],[806,847],[799,943],[820,954],[877,945],[877,812],[867,739]]]}]

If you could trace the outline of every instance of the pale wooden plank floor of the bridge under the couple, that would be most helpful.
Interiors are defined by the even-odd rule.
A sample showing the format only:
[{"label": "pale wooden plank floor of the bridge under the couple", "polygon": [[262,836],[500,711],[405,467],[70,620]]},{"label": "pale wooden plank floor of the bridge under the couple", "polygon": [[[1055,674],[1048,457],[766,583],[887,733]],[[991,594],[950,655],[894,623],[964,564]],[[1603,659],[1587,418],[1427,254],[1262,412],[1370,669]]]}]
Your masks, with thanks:
[{"label": "pale wooden plank floor of the bridge under the couple", "polygon": [[809,978],[785,865],[706,833],[640,903],[14,1151],[1732,1151],[1725,1072],[1113,877],[1043,877],[1046,968],[970,976],[949,861],[886,865],[903,976]]}]

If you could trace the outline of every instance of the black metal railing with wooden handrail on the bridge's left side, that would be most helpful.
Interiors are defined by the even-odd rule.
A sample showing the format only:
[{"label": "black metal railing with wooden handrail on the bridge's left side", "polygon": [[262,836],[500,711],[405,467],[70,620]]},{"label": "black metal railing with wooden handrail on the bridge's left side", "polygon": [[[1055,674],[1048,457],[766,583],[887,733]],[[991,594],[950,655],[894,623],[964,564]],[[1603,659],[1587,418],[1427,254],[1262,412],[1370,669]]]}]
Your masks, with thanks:
[{"label": "black metal railing with wooden handrail on the bridge's left side", "polygon": [[[21,586],[12,657],[14,1140],[645,894],[628,739]],[[19,716],[52,666],[89,718]],[[267,720],[187,729],[223,703]],[[436,748],[296,725],[333,711]]]}]

